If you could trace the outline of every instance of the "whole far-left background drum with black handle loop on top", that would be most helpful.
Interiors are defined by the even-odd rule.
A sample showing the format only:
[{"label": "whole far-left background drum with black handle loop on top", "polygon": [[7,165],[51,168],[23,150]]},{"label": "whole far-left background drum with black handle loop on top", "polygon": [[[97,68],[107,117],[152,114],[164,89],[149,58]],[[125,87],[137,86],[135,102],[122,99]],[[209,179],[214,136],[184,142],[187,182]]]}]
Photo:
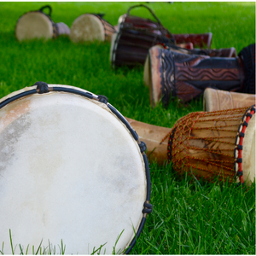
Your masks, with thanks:
[{"label": "whole far-left background drum with black handle loop on top", "polygon": [[[44,9],[49,9],[49,14],[44,13]],[[51,20],[51,7],[43,6],[36,11],[30,11],[22,15],[15,26],[15,37],[19,40],[34,38],[57,38],[61,35],[69,35],[69,27],[63,23],[55,23]]]}]

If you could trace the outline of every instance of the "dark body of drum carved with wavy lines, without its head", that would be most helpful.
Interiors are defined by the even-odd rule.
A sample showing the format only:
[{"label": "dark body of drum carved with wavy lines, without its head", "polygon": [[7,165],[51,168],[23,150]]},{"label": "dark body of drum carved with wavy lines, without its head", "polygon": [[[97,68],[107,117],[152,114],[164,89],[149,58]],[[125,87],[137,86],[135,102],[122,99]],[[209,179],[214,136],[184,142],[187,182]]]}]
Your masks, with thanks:
[{"label": "dark body of drum carved with wavy lines, without its head", "polygon": [[[211,58],[207,55],[188,55],[170,49],[160,50],[160,71],[166,73],[163,75],[165,81],[161,81],[164,106],[168,104],[171,92],[172,96],[189,102],[192,98],[201,96],[207,87],[222,90],[241,88],[244,76],[237,58],[224,61],[223,58]],[[174,75],[167,74],[170,70],[174,70]],[[168,90],[169,88],[172,90]]]}]

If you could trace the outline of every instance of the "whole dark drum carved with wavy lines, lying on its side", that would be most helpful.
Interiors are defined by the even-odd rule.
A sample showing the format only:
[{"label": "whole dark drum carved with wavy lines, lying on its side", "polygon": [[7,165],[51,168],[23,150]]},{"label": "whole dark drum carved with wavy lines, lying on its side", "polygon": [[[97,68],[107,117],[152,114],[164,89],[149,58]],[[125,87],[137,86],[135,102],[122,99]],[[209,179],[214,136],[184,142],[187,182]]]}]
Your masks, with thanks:
[{"label": "whole dark drum carved with wavy lines, lying on its side", "polygon": [[189,102],[208,87],[254,94],[255,44],[242,49],[236,58],[184,54],[154,46],[149,49],[144,81],[149,86],[152,107],[157,102],[166,107],[176,96]]}]

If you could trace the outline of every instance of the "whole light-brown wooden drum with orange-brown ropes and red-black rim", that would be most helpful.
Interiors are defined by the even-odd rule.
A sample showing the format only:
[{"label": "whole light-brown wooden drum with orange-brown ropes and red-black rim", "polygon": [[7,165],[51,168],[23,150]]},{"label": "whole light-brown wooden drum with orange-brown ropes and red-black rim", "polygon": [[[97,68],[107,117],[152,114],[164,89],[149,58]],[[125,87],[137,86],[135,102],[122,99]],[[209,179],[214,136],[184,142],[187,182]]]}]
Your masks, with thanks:
[{"label": "whole light-brown wooden drum with orange-brown ropes and red-black rim", "polygon": [[177,173],[188,172],[208,181],[238,176],[241,183],[250,183],[255,178],[254,113],[255,105],[189,113],[172,129],[127,120],[147,143],[150,160],[172,161]]}]

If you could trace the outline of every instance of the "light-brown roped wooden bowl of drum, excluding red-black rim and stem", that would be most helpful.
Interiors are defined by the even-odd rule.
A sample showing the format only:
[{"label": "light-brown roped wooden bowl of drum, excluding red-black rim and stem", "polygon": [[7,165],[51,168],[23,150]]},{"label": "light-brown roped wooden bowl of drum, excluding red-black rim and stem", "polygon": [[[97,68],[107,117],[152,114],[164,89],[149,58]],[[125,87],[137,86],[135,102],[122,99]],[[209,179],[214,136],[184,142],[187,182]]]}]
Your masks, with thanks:
[{"label": "light-brown roped wooden bowl of drum, excluding red-black rim and stem", "polygon": [[169,133],[168,143],[169,160],[175,170],[210,181],[217,175],[220,180],[233,179],[237,127],[246,109],[189,113],[179,119]]}]

